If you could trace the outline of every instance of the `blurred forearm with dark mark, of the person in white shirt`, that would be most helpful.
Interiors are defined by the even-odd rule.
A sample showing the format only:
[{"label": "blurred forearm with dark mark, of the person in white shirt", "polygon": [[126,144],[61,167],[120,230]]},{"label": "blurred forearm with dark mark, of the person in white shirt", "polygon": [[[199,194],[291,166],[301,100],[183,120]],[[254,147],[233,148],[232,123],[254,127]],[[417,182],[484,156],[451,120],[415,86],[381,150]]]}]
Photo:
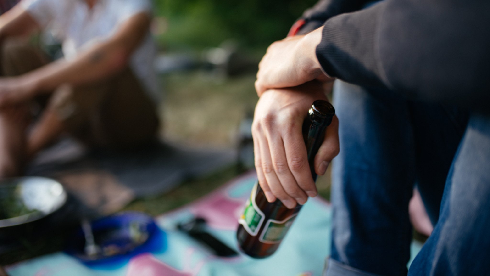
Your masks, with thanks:
[{"label": "blurred forearm with dark mark, of the person in white shirt", "polygon": [[102,43],[73,60],[60,60],[22,76],[37,93],[49,92],[61,84],[83,85],[102,80],[122,70],[130,51],[114,43]]}]

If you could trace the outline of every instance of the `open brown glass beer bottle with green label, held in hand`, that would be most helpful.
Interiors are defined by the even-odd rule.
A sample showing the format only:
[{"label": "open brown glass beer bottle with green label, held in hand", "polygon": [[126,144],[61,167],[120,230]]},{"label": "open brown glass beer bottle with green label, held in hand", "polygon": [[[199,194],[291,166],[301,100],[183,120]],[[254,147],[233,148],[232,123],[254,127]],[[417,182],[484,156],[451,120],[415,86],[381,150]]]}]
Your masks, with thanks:
[{"label": "open brown glass beer bottle with green label, held in hand", "polygon": [[[316,100],[303,124],[303,138],[314,181],[317,180],[315,155],[334,115],[335,109],[329,102]],[[255,183],[239,219],[237,239],[240,250],[254,258],[270,256],[281,244],[301,207],[297,204],[294,209],[288,209],[279,200],[268,202],[258,182]]]}]

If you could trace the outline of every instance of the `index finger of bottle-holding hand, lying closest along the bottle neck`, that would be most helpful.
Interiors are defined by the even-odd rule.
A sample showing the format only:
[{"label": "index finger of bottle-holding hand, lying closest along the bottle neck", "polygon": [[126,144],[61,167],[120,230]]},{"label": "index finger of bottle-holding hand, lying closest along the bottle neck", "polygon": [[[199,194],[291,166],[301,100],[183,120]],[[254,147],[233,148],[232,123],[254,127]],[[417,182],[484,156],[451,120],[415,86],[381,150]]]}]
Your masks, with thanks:
[{"label": "index finger of bottle-holding hand, lying closest along the bottle neck", "polygon": [[310,172],[308,164],[308,156],[306,155],[306,146],[301,133],[301,123],[296,122],[287,129],[284,135],[284,148],[286,150],[286,158],[288,166],[293,173],[294,179],[298,186],[309,196],[316,197],[318,195],[317,186]]}]

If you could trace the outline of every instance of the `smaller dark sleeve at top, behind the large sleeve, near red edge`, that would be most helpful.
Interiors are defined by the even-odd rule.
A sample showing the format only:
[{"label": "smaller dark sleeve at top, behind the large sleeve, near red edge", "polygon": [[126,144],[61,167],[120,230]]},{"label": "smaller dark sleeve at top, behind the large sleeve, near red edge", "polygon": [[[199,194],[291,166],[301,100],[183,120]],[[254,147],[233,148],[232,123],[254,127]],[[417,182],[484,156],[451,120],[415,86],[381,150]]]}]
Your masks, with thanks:
[{"label": "smaller dark sleeve at top, behind the large sleeve, near red edge", "polygon": [[305,25],[298,34],[305,34],[322,26],[325,21],[336,15],[353,12],[363,7],[368,0],[319,0],[315,6],[307,9],[301,19]]}]

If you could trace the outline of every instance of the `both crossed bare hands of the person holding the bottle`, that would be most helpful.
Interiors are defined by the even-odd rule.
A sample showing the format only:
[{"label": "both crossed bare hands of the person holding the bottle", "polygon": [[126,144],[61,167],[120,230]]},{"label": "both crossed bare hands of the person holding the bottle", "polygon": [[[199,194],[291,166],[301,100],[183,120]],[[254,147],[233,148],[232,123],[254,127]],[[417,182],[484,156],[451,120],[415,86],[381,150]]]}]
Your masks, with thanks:
[{"label": "both crossed bare hands of the person holding the bottle", "polygon": [[[273,43],[259,64],[252,136],[255,167],[268,201],[288,208],[318,194],[311,176],[301,126],[315,100],[326,100],[324,75],[315,54],[321,28]],[[315,172],[324,175],[339,153],[338,120],[334,117],[315,157]]]}]

